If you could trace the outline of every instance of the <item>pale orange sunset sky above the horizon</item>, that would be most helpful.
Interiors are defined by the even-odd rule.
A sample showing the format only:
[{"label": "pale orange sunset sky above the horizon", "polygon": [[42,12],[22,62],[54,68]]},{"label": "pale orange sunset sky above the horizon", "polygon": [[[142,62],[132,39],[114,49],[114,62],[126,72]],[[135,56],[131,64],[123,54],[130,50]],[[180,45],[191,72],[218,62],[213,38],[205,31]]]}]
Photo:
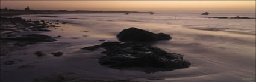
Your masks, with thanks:
[{"label": "pale orange sunset sky above the horizon", "polygon": [[255,1],[2,1],[1,8],[33,10],[255,13]]}]

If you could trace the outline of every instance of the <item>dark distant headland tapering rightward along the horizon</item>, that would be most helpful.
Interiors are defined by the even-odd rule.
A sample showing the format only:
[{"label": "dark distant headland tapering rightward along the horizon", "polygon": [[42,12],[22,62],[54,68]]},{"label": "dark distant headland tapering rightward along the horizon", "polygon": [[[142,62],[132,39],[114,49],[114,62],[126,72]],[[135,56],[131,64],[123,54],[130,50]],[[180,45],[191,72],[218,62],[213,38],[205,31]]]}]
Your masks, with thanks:
[{"label": "dark distant headland tapering rightward along the horizon", "polygon": [[139,12],[139,11],[90,11],[90,10],[31,10],[30,7],[26,7],[24,10],[17,9],[8,9],[5,7],[0,10],[1,16],[14,16],[22,14],[61,14],[61,13],[154,13],[151,11],[148,12]]}]

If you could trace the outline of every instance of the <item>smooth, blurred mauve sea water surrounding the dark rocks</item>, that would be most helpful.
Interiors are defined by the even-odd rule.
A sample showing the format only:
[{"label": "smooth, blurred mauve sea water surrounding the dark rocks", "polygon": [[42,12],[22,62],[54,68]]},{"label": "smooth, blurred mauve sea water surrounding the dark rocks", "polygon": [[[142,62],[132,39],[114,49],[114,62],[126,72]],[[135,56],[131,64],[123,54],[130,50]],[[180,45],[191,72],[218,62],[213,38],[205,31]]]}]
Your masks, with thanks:
[{"label": "smooth, blurred mauve sea water surrounding the dark rocks", "polygon": [[[255,81],[255,19],[210,19],[202,18],[200,14],[48,14],[23,15],[26,19],[48,20],[52,22],[69,22],[52,29],[52,32],[42,34],[62,38],[57,42],[31,45],[25,51],[35,50],[46,52],[63,51],[62,57],[34,59],[28,56],[24,59],[39,62],[30,71],[11,70],[5,77],[14,75],[20,80],[30,81],[31,78],[49,75],[52,72],[75,72],[81,77],[101,79],[131,79],[137,81]],[[177,15],[176,19],[175,16]],[[254,17],[255,14],[210,14],[208,17]],[[116,70],[101,66],[97,58],[104,54],[99,51],[83,51],[80,48],[101,44],[100,39],[117,41],[116,35],[123,29],[136,27],[151,32],[164,32],[172,36],[172,40],[158,41],[153,44],[163,50],[180,53],[192,65],[185,69],[154,72],[147,74],[140,71]],[[89,32],[84,32],[89,31]],[[83,37],[83,35],[88,35]],[[79,39],[70,39],[78,37]],[[16,52],[19,53],[19,52]],[[32,55],[32,54],[31,54]],[[23,56],[18,56],[23,57]],[[65,68],[65,69],[62,69]],[[7,67],[4,69],[8,69]],[[34,74],[33,72],[40,72]],[[41,73],[42,72],[42,73]],[[34,74],[34,75],[31,75]],[[148,80],[160,78],[163,80]],[[20,81],[19,80],[19,81]],[[6,78],[6,81],[16,81]]]}]

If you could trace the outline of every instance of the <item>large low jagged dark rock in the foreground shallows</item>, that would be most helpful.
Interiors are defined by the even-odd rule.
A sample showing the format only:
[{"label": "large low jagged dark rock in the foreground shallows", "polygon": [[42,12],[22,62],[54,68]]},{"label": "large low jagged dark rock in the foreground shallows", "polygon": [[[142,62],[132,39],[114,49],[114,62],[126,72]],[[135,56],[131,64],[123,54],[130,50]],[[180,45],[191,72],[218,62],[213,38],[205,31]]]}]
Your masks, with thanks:
[{"label": "large low jagged dark rock in the foreground shallows", "polygon": [[172,71],[173,69],[187,68],[190,62],[183,60],[183,55],[168,53],[151,45],[139,42],[104,42],[90,48],[83,49],[95,50],[95,48],[105,48],[99,63],[115,69],[129,69],[130,67],[139,67],[145,71],[145,68],[154,68],[145,72]]}]

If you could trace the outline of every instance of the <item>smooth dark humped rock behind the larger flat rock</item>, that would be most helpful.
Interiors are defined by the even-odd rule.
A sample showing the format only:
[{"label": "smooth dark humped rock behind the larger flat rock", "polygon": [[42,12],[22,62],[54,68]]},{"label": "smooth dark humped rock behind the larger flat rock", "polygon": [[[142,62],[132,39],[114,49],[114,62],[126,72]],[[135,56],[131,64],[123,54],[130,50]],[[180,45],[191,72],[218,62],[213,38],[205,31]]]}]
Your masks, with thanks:
[{"label": "smooth dark humped rock behind the larger flat rock", "polygon": [[158,41],[158,40],[170,40],[172,37],[164,33],[152,33],[143,29],[129,28],[124,29],[116,36],[119,41],[127,42],[143,42],[143,41]]}]

